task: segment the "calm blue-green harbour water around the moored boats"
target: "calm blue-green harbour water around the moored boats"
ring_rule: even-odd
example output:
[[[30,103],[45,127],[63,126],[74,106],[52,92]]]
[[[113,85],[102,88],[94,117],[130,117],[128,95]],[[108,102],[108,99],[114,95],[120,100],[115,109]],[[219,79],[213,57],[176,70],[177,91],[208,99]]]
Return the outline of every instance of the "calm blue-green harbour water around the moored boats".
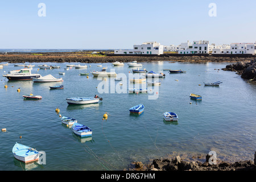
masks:
[[[0,132],[0,170],[123,170],[131,162],[147,163],[174,152],[207,155],[209,151],[216,151],[217,159],[234,161],[254,158],[256,85],[247,83],[234,72],[221,70],[230,63],[142,63],[142,68],[147,71],[166,74],[165,78],[159,79],[160,86],[148,86],[149,91],[155,91],[157,99],[149,99],[153,93],[117,93],[122,88],[127,91],[125,80],[120,87],[119,81],[113,78],[102,81],[91,73],[89,78],[79,76],[80,72],[100,70],[98,64],[68,71],[64,71],[66,64],[77,63],[46,63],[61,68],[39,71],[39,63],[32,64],[36,65],[32,72],[42,76],[59,77],[62,76],[59,72],[65,72],[64,81],[34,83],[1,78],[0,127],[7,131]],[[123,67],[104,63],[102,67],[108,67],[109,71],[115,69],[116,73],[124,73],[129,79],[131,68],[127,63]],[[0,73],[4,75],[19,68],[9,64],[0,69]],[[170,74],[163,68],[183,69],[187,73]],[[223,83],[219,87],[204,86],[204,82],[215,81]],[[98,92],[99,84],[104,82],[109,83],[109,93]],[[110,86],[113,82],[114,93],[113,85]],[[63,90],[49,89],[49,86],[60,84],[64,85]],[[16,91],[18,88],[20,92]],[[23,100],[22,95],[30,93],[43,98]],[[203,100],[191,100],[191,93],[201,95]],[[65,101],[67,97],[94,97],[95,94],[103,98],[99,104],[68,106]],[[130,107],[138,104],[145,106],[144,112],[139,116],[131,115]],[[80,139],[62,125],[55,112],[57,107],[61,115],[76,118],[90,127],[92,138]],[[165,111],[176,113],[179,121],[165,122]],[[106,112],[108,119],[102,120]],[[25,166],[20,163],[11,152],[15,142],[46,152],[46,164]]]

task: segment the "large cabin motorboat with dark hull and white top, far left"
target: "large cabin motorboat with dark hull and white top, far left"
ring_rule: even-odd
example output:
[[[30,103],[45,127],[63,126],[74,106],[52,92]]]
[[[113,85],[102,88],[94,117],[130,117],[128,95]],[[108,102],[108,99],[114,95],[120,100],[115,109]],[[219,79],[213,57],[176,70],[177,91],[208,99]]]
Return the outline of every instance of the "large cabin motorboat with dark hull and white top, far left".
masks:
[[[7,75],[3,75],[8,80],[32,80],[32,77],[41,77],[39,74],[32,74],[31,73],[32,68],[23,68],[20,69],[18,73],[10,73]]]

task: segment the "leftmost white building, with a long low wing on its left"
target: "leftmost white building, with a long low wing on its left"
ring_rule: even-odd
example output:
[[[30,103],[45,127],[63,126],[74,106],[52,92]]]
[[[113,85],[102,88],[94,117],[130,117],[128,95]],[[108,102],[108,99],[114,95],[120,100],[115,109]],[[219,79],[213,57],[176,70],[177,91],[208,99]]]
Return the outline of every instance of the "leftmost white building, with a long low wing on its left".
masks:
[[[163,45],[158,42],[143,42],[141,45],[134,45],[133,49],[115,49],[115,54],[125,55],[161,55]]]

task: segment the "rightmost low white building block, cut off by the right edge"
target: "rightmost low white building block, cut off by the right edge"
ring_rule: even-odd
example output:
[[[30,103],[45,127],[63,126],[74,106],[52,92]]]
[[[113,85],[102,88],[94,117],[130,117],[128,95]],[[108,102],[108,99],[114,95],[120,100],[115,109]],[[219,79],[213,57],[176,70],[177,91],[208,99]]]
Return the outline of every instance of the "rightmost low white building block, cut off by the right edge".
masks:
[[[256,53],[256,43],[232,43],[230,46],[222,45],[214,48],[212,54],[252,54]]]

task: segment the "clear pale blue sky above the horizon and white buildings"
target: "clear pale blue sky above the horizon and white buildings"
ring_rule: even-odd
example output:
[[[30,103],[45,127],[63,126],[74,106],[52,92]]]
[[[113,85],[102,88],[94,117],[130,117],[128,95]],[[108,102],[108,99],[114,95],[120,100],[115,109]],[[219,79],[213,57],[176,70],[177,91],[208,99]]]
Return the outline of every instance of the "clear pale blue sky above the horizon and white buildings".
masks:
[[[255,0],[2,0],[0,49],[129,49],[143,42],[178,46],[188,40],[254,43],[254,7]]]

